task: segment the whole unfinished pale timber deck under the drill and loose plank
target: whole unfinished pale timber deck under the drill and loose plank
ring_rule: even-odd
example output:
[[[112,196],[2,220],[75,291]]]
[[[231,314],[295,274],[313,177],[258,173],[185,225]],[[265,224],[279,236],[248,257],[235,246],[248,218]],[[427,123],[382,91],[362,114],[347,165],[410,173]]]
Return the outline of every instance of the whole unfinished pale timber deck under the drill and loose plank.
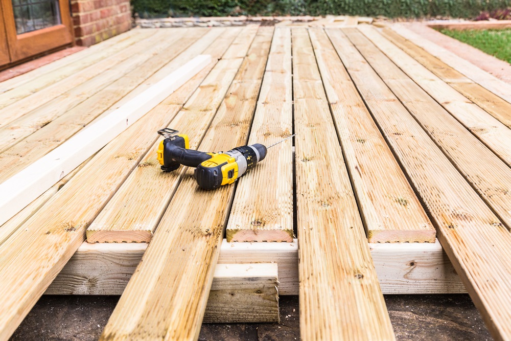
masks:
[[[464,290],[511,338],[511,85],[402,26],[344,26],[135,29],[1,82],[0,339],[44,292],[122,293],[105,340],[275,321],[279,294],[299,294],[304,339],[383,340],[382,293]],[[8,180],[200,54],[7,209]],[[159,169],[164,127],[203,151],[296,136],[203,191]]]

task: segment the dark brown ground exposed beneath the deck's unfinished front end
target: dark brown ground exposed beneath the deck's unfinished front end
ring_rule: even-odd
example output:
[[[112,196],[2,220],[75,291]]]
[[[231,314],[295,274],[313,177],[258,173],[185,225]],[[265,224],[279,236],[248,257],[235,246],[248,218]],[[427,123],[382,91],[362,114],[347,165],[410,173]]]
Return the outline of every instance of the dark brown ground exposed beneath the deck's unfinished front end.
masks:
[[[97,340],[118,296],[43,296],[11,341]],[[491,340],[468,295],[387,295],[398,340]],[[199,340],[299,340],[298,297],[283,296],[281,323],[204,324]]]

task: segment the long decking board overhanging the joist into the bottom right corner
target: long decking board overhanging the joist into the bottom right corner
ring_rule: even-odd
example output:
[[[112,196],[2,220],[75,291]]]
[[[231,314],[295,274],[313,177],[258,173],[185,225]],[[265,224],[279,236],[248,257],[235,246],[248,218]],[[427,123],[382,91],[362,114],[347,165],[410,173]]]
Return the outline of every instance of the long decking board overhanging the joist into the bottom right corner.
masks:
[[[327,30],[496,339],[511,337],[511,234],[340,30]]]

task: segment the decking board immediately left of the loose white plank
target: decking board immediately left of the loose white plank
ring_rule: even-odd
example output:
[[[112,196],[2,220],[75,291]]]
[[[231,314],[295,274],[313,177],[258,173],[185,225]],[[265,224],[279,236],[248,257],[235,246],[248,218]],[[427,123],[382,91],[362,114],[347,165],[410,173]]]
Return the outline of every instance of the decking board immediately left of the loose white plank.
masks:
[[[20,143],[4,150],[0,154],[0,181],[5,181],[31,163],[38,160],[51,150],[58,147],[75,133],[83,129],[94,119],[100,116],[115,102],[123,98],[133,88],[147,80],[158,69],[188,48],[189,44],[200,38],[204,31],[192,31],[184,34],[180,39],[172,40],[163,44],[166,49],[161,53],[154,53],[149,56],[136,58],[132,56],[130,61],[137,60],[138,63],[131,70],[122,71],[117,69],[119,79],[107,85],[100,92],[90,96],[74,108],[67,110],[62,116],[48,123],[29,135]],[[168,36],[168,35],[167,35]],[[177,47],[175,46],[177,45]],[[148,58],[149,57],[149,58]],[[136,72],[134,72],[136,71]],[[124,73],[125,72],[125,73]],[[109,115],[108,113],[106,115]]]

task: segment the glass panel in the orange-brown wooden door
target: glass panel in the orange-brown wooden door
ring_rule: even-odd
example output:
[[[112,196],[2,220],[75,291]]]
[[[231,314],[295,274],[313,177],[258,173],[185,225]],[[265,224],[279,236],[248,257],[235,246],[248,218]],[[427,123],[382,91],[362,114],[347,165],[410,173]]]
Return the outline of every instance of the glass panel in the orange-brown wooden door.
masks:
[[[16,34],[60,25],[58,0],[12,0]]]

